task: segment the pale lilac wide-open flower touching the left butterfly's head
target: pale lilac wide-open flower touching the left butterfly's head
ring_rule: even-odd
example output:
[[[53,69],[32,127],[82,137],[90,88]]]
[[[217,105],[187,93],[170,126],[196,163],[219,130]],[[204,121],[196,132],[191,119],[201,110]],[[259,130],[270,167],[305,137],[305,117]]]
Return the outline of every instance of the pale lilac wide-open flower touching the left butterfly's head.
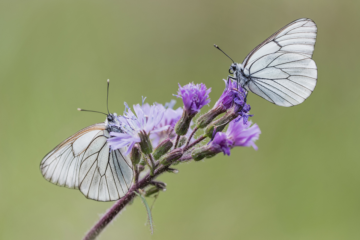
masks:
[[[161,132],[169,127],[169,125],[157,127],[161,121],[165,109],[159,108],[156,105],[133,105],[135,114],[127,106],[127,112],[123,116],[118,116],[118,124],[113,124],[116,128],[121,129],[122,132],[110,132],[110,137],[107,141],[111,149],[119,149],[127,147],[126,155],[130,153],[132,147],[136,142],[140,142],[139,133],[142,135],[149,135],[156,132]]]

